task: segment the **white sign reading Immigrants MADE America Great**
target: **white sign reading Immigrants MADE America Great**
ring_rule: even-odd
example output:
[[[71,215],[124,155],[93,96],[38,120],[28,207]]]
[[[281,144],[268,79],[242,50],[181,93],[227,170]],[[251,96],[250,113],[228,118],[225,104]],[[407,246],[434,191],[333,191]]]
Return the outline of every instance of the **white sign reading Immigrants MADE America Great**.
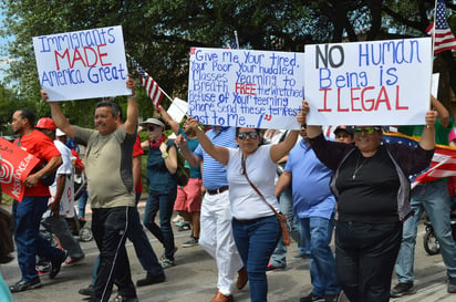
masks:
[[[49,101],[131,94],[122,27],[33,38],[38,74]]]

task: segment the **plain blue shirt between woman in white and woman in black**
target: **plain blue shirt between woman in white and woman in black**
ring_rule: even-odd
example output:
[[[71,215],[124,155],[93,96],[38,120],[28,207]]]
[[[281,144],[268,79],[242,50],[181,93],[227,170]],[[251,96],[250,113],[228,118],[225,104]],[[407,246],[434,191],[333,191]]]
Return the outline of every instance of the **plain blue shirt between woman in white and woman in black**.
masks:
[[[304,139],[290,150],[284,170],[292,175],[293,210],[297,216],[329,219],[335,211],[335,197],[330,189],[333,171],[318,159]]]

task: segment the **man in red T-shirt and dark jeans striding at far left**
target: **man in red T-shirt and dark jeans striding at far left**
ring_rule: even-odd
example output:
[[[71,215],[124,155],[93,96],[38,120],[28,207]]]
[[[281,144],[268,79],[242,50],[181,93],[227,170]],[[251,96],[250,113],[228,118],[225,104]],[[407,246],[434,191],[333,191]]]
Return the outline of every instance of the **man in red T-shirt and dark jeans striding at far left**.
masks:
[[[49,188],[40,183],[40,178],[52,174],[61,164],[62,158],[51,138],[33,128],[34,114],[22,108],[12,115],[12,129],[19,134],[14,144],[41,159],[38,166],[43,168],[32,171],[24,180],[25,191],[21,201],[14,200],[12,212],[14,218],[14,240],[18,250],[18,262],[21,270],[21,280],[10,287],[11,292],[38,289],[42,287],[35,269],[35,257],[51,259],[51,279],[60,272],[66,252],[53,248],[51,243],[39,236],[41,217],[48,209],[51,197]],[[55,127],[55,125],[54,125]]]

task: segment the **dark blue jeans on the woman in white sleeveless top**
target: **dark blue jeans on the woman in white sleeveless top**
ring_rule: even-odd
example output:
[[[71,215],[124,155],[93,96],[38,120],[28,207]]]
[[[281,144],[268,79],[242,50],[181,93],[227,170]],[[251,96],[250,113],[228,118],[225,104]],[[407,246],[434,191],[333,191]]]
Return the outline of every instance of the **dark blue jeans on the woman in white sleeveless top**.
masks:
[[[266,268],[282,236],[276,216],[251,220],[232,219],[232,235],[250,283],[250,301],[267,301]]]

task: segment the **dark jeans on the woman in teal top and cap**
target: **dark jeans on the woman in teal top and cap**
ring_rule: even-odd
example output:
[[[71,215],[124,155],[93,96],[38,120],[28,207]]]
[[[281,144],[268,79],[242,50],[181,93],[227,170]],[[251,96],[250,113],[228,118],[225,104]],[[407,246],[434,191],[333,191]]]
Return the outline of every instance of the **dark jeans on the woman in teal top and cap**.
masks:
[[[165,248],[165,257],[174,261],[174,233],[170,225],[177,187],[167,192],[149,190],[144,211],[144,226],[158,239]],[[159,210],[159,227],[155,223],[155,216]]]

